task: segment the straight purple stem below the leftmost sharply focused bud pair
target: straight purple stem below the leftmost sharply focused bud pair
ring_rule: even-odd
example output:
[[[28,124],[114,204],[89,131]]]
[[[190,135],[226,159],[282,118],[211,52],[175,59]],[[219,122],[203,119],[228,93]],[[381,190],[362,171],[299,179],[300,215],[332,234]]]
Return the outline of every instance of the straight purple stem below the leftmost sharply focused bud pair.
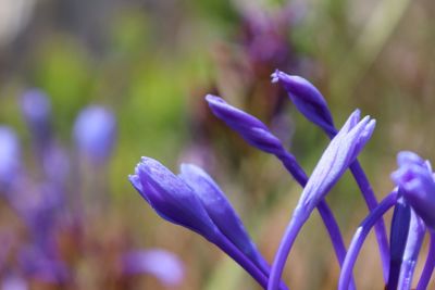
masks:
[[[224,235],[219,235],[215,241],[212,240],[222,251],[227,253],[237,264],[239,264],[264,289],[268,287],[268,273],[261,272],[258,266],[250,261],[237,247],[235,247]],[[269,269],[268,269],[269,270]],[[279,285],[281,290],[288,290],[284,285]]]

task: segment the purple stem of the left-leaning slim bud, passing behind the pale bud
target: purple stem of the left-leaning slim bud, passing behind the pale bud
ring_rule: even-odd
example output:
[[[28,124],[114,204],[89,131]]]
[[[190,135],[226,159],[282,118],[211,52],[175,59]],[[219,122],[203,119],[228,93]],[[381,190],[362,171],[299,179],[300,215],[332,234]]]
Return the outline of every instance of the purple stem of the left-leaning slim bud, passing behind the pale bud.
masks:
[[[300,165],[296,161],[295,156],[288,152],[285,152],[285,154],[278,155],[277,157],[283,162],[284,166],[293,175],[296,181],[302,188],[304,188],[308,181],[308,177],[304,171],[300,167]],[[337,256],[338,264],[341,267],[346,256],[346,247],[337,220],[335,219],[333,212],[331,211],[330,206],[327,205],[324,199],[322,199],[319,202],[316,209],[319,211],[320,216],[322,217],[323,224],[325,225],[327,232],[330,234],[335,255]],[[355,281],[352,279],[351,290],[353,289],[356,289],[356,287],[355,287]]]

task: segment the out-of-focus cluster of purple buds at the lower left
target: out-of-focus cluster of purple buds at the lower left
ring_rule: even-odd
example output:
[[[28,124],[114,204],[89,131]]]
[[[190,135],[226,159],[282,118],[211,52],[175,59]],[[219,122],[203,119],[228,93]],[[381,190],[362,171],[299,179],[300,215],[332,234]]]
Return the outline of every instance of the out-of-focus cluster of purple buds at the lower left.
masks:
[[[95,177],[108,167],[115,146],[114,114],[100,105],[84,109],[73,128],[75,150],[69,152],[54,137],[51,103],[42,91],[26,91],[21,109],[38,171],[24,163],[15,131],[0,126],[2,210],[8,209],[11,220],[18,220],[0,227],[0,288],[88,289],[92,283],[99,289],[130,289],[132,278],[144,275],[169,287],[179,285],[184,267],[173,253],[136,249],[122,228],[114,228],[113,237],[97,235],[92,228],[104,215],[95,218],[88,196],[109,192],[103,187],[84,190],[85,174],[78,165],[95,169],[92,182],[98,184]],[[110,204],[104,205],[104,212],[110,212]],[[100,266],[87,273],[86,281],[79,273],[91,260],[101,260]],[[98,275],[104,278],[98,280],[94,277]]]

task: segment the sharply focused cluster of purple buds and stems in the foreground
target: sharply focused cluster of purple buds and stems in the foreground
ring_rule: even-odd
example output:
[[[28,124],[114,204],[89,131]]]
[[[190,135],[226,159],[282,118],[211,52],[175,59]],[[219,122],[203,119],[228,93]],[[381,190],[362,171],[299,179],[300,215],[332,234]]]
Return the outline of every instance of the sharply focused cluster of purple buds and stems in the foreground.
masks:
[[[298,111],[331,138],[310,176],[264,123],[220,97],[206,97],[217,118],[251,147],[276,156],[302,187],[271,265],[254,245],[220,187],[203,169],[183,164],[181,174],[175,175],[158,161],[142,157],[135,174],[129,176],[133,186],[161,217],[214,243],[269,290],[287,289],[282,281],[287,257],[314,209],[323,219],[340,266],[337,282],[340,290],[357,289],[352,269],[372,227],[376,234],[386,289],[411,289],[417,259],[424,235],[428,232],[428,255],[417,286],[419,290],[426,289],[435,265],[435,179],[430,163],[412,152],[399,153],[399,168],[391,174],[396,187],[377,202],[357,160],[374,131],[375,121],[370,116],[361,118],[360,111],[356,110],[341,128],[337,128],[324,97],[311,83],[279,71],[272,74],[272,81],[278,83]],[[326,194],[347,169],[368,206],[368,215],[357,228],[349,247],[345,245],[334,213],[325,201]],[[383,216],[391,207],[394,216],[388,240]]]

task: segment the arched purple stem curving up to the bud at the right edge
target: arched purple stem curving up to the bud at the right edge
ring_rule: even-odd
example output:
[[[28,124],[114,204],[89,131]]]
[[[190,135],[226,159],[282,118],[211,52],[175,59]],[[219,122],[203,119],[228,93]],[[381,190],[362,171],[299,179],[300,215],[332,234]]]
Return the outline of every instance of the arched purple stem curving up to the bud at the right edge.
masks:
[[[347,290],[349,287],[350,277],[353,270],[353,265],[357,261],[358,253],[360,252],[362,244],[366,236],[369,235],[371,228],[376,224],[376,222],[382,218],[382,216],[391,206],[395,205],[397,201],[397,191],[390,192],[361,223],[355,234],[352,241],[347,252],[345,263],[341,269],[338,290]]]

